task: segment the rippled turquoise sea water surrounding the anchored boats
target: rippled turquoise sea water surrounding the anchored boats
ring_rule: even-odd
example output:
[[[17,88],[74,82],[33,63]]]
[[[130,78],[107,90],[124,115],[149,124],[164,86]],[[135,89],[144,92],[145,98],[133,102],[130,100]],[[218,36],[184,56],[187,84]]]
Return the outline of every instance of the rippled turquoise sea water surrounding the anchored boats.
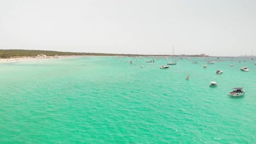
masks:
[[[255,59],[171,59],[0,63],[0,143],[256,143]]]

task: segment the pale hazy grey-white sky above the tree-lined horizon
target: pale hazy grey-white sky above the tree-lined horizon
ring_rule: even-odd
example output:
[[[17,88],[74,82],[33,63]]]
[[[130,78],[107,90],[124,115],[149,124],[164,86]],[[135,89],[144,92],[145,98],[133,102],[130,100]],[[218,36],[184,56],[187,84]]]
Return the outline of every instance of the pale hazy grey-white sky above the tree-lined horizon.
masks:
[[[256,54],[256,1],[0,0],[0,49]]]

